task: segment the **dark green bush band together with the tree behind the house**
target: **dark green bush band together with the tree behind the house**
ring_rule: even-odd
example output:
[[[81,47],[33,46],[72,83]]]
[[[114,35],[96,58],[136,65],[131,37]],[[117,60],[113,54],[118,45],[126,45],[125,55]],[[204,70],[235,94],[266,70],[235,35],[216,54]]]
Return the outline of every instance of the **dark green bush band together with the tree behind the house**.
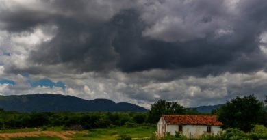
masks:
[[[111,128],[113,126],[155,124],[162,114],[197,113],[186,111],[178,102],[159,100],[148,113],[138,112],[33,112],[18,113],[0,109],[0,130],[16,128],[42,128],[63,126],[64,130]]]

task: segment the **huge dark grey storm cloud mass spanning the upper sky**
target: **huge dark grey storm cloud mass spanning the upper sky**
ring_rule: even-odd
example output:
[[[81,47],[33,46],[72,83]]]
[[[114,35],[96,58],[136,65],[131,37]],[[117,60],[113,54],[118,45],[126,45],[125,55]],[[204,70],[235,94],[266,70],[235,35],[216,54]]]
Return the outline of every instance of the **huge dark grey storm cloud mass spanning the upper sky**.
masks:
[[[171,3],[160,1],[159,5],[168,2]],[[120,8],[121,4],[113,1],[110,7],[115,12],[111,14],[108,4],[99,5],[97,1],[50,1],[48,8],[56,9],[55,12],[22,9],[7,12],[0,19],[8,31],[22,31],[47,23],[58,27],[50,42],[31,52],[29,60],[36,64],[64,64],[77,72],[166,69],[206,76],[265,68],[266,57],[259,49],[258,38],[266,29],[266,3],[240,1],[236,7],[238,14],[231,17],[223,1],[197,1],[184,8],[187,11],[164,13],[167,15],[162,18],[164,23],[144,20],[146,6],[130,6],[134,2]],[[188,15],[190,10],[196,15]],[[196,21],[196,33],[191,31],[191,25],[188,29],[179,27],[176,14]],[[229,31],[225,29],[218,34],[223,26],[220,18],[226,20]],[[166,31],[156,33],[154,30],[161,29],[161,24]],[[191,24],[193,27],[194,22]],[[168,28],[164,27],[167,25]]]

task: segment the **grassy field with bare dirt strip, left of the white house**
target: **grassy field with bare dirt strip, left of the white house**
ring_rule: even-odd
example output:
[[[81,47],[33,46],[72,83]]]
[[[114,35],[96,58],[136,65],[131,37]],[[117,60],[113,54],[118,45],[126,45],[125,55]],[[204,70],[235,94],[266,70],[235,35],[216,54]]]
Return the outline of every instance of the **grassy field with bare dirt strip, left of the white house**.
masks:
[[[36,132],[34,128],[1,130],[0,139],[10,140],[115,140],[119,135],[130,135],[132,138],[149,137],[156,131],[155,126],[116,126],[114,128],[98,128],[84,131],[61,131],[60,127],[48,128],[47,131]]]

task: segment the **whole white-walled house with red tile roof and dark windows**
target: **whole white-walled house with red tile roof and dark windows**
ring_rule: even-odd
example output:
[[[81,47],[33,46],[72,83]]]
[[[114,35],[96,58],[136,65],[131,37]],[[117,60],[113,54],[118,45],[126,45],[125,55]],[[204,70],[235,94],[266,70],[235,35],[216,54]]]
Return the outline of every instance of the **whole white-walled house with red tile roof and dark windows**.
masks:
[[[203,134],[217,135],[222,131],[223,123],[216,115],[162,115],[157,123],[157,135],[164,136],[167,132],[175,135],[180,132],[186,137],[200,137]]]

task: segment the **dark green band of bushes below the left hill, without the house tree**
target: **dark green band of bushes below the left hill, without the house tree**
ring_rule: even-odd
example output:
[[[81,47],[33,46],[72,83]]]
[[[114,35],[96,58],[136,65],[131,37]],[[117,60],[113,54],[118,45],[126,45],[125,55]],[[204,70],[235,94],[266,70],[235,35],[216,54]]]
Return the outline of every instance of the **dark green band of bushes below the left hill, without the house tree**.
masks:
[[[66,129],[81,130],[143,124],[146,121],[146,113],[133,112],[17,113],[0,111],[1,129],[64,126]]]

